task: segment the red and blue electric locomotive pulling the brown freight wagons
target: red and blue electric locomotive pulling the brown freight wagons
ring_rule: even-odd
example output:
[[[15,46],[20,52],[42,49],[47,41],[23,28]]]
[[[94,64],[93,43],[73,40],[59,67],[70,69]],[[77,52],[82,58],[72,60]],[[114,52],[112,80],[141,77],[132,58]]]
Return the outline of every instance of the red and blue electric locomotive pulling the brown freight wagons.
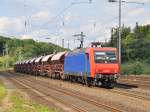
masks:
[[[86,48],[69,52],[65,56],[64,74],[71,80],[84,81],[87,85],[113,88],[120,66],[116,48]]]

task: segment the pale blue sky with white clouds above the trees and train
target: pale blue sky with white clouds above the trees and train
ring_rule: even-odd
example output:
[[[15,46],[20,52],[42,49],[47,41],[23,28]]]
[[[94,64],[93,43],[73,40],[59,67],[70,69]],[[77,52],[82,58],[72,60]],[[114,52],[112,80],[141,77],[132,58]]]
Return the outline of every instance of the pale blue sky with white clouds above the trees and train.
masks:
[[[122,24],[134,27],[150,24],[150,0],[125,0]],[[26,27],[25,27],[26,20]],[[84,46],[93,41],[108,41],[112,27],[118,26],[118,3],[108,0],[0,0],[0,35],[32,38],[71,49],[79,46],[74,34],[83,32]],[[49,39],[47,39],[49,38]]]

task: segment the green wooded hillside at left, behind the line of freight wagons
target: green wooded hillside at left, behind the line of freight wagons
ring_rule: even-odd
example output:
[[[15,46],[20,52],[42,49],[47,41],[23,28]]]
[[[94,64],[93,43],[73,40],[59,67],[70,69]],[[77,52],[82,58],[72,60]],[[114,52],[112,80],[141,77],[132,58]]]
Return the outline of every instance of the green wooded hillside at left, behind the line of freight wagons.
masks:
[[[45,42],[36,42],[32,39],[20,40],[15,38],[6,38],[0,36],[0,68],[6,67],[6,62],[8,62],[8,67],[12,67],[16,61],[25,60],[32,57],[37,57],[41,55],[47,55],[53,53],[54,51],[64,51],[67,50],[62,48],[58,45],[52,43],[45,43]],[[8,57],[2,56],[2,51],[4,50],[4,45],[7,44],[8,46]]]

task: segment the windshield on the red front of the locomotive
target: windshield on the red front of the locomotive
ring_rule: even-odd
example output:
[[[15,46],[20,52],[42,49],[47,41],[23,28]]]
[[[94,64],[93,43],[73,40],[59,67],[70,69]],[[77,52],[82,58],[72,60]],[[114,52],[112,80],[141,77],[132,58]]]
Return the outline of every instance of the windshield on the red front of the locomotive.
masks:
[[[95,63],[117,63],[117,55],[114,51],[95,51]]]

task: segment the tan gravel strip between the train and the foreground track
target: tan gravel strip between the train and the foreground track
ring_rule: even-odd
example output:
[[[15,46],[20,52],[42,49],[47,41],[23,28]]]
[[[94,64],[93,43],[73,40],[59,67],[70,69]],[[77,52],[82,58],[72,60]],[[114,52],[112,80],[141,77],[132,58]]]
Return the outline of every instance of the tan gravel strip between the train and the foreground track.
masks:
[[[37,77],[36,80],[45,81],[48,82],[49,84],[61,86],[63,88],[67,88],[78,93],[96,96],[97,98],[105,100],[106,102],[110,102],[111,104],[114,104],[116,106],[119,105],[126,111],[133,111],[133,110],[134,112],[150,111],[150,101],[144,101],[137,98],[111,93],[109,90],[104,91],[103,88],[95,88],[95,87],[89,88],[86,86],[82,86],[81,84],[70,83],[61,80],[53,80],[43,77]]]

